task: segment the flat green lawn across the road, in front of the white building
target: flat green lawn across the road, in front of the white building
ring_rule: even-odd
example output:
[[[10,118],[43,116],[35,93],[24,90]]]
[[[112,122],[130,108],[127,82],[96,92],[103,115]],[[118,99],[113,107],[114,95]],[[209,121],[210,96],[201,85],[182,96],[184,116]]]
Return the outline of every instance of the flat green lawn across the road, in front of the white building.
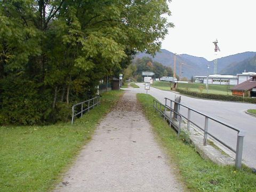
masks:
[[[160,90],[165,90],[165,91],[170,91],[170,82],[160,82],[160,81],[155,81],[153,83],[153,87],[160,89]],[[183,89],[187,91],[194,91],[194,92],[200,92],[199,87],[203,87],[202,93],[206,93],[206,87],[205,84],[202,83],[178,83],[178,89]],[[233,85],[211,85],[209,84],[209,93],[212,94],[225,94],[227,93],[231,95],[231,91],[228,90],[229,88],[233,87]]]

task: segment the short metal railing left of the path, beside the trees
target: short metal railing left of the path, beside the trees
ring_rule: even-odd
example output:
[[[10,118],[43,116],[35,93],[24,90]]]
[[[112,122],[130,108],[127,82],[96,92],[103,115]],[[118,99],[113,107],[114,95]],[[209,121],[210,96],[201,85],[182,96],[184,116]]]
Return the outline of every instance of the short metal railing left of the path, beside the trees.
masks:
[[[78,113],[75,113],[75,107],[80,106],[80,105],[81,105],[81,108],[76,110],[76,111],[79,111],[79,110],[80,111]],[[81,103],[77,103],[76,105],[73,105],[72,106],[72,120],[71,120],[71,124],[74,123],[75,117],[77,115],[81,115],[81,117],[83,117],[84,111],[89,112],[91,108],[94,108],[94,106],[98,106],[98,105],[100,105],[100,96],[97,96],[97,97],[94,97],[92,99],[83,101]]]

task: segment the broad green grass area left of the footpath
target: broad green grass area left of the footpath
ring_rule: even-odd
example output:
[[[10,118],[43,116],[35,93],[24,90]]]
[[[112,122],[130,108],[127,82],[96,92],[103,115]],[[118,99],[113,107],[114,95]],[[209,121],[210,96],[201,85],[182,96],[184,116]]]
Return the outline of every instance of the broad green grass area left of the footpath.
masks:
[[[101,105],[74,125],[0,127],[0,191],[51,190],[122,94],[104,93]]]

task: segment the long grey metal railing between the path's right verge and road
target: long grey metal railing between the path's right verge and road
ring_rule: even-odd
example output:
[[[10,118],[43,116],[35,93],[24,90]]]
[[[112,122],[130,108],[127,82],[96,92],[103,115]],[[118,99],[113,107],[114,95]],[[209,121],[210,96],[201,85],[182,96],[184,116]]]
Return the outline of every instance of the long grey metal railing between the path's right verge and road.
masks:
[[[223,123],[223,122],[219,121],[218,119],[215,119],[213,117],[205,115],[205,114],[203,114],[203,113],[201,113],[201,112],[199,112],[195,109],[192,109],[190,107],[182,105],[179,102],[173,101],[173,100],[168,99],[168,98],[164,98],[164,99],[165,99],[165,105],[163,105],[161,102],[154,99],[153,107],[155,108],[156,111],[158,111],[159,113],[161,113],[163,115],[164,119],[168,119],[168,121],[170,122],[170,126],[173,125],[173,127],[178,131],[178,136],[180,134],[182,118],[185,118],[187,120],[187,129],[188,130],[189,130],[190,125],[193,124],[198,129],[200,129],[204,132],[203,143],[204,143],[205,146],[207,145],[207,137],[209,135],[210,137],[212,137],[213,139],[215,139],[216,141],[221,143],[223,146],[225,146],[226,148],[228,148],[229,150],[231,150],[235,153],[235,155],[236,155],[236,157],[235,157],[235,166],[237,168],[241,168],[241,166],[242,166],[242,154],[243,154],[243,139],[244,139],[244,136],[245,136],[242,131],[236,129],[234,126]],[[170,106],[167,105],[167,101],[169,101]],[[178,110],[174,110],[174,105],[178,106]],[[187,109],[187,114],[186,115],[182,115],[180,113],[180,107],[184,107],[184,108]],[[168,113],[169,113],[168,111],[170,111],[170,115],[168,115]],[[191,111],[193,111],[194,113],[204,117],[204,127],[199,126],[197,123],[195,123],[194,121],[191,120]],[[221,139],[215,137],[213,134],[209,133],[209,131],[208,131],[209,130],[209,119],[211,119],[215,123],[218,123],[220,125],[223,125],[223,126],[227,127],[230,130],[233,130],[237,133],[236,149],[233,149],[227,143],[225,143]]]

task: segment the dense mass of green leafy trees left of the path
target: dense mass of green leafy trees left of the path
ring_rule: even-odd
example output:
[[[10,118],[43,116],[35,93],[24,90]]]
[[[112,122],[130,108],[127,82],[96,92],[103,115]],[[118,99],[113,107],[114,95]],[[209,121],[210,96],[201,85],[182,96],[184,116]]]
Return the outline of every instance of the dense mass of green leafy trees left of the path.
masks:
[[[13,99],[21,109],[20,103],[30,95],[23,116],[2,113],[2,122],[54,122],[62,119],[58,110],[68,118],[70,103],[93,97],[100,81],[121,73],[132,55],[160,49],[161,39],[173,27],[166,14],[170,11],[165,0],[1,1],[0,81],[4,83],[0,93],[5,96],[0,106],[14,111],[17,104],[6,105]],[[9,76],[20,74],[21,82],[26,81],[23,85],[15,83],[12,90],[3,87],[11,84]],[[30,109],[39,101],[43,109]]]

